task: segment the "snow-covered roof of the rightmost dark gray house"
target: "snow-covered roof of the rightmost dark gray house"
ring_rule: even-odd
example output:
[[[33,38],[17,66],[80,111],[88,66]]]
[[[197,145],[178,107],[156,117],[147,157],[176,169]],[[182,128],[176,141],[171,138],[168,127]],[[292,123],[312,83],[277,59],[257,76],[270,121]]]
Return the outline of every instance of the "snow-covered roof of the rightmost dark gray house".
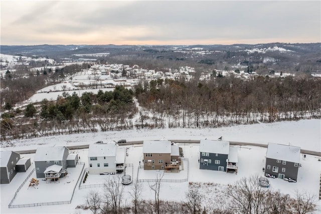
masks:
[[[268,143],[266,157],[276,160],[299,163],[300,152],[301,148],[297,146]]]

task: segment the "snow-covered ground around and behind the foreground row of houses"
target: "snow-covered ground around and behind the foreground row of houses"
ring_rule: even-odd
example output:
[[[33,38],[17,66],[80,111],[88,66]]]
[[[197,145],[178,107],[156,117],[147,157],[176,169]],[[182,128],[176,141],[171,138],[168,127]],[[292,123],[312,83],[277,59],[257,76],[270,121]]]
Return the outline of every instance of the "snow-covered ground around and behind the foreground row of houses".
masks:
[[[320,151],[320,132],[320,120],[302,120],[297,122],[233,126],[219,129],[156,129],[52,136],[16,141],[15,147],[6,147],[2,148],[2,150],[19,151],[24,149],[35,149],[40,146],[48,145],[72,146],[90,144],[98,140],[102,140],[107,143],[109,140],[119,139],[127,139],[127,141],[152,139],[200,140],[205,138],[217,139],[218,137],[223,136],[223,140],[225,141],[240,141],[261,144],[267,144],[268,142],[281,144],[290,143],[293,146],[300,146],[302,149]],[[211,170],[200,170],[198,163],[199,145],[182,143],[179,144],[179,146],[183,149],[184,157],[188,158],[188,167],[186,167],[187,164],[184,162],[184,170],[180,171],[179,173],[165,173],[164,179],[171,179],[173,176],[176,176],[178,179],[182,179],[188,175],[188,182],[163,182],[159,194],[161,199],[176,201],[185,200],[185,193],[188,191],[189,182],[211,183],[213,188],[201,188],[201,190],[202,193],[208,194],[210,192],[210,196],[215,197],[215,195],[222,194],[221,189],[223,189],[227,184],[234,183],[242,177],[248,177],[253,174],[264,175],[262,172],[262,167],[264,167],[266,148],[238,146],[239,164],[238,173],[235,174]],[[142,160],[142,146],[131,145],[126,147],[128,153],[128,156],[126,157],[126,163],[133,164],[133,167],[128,168],[128,170],[132,171],[133,178],[136,179],[139,161]],[[85,168],[88,167],[88,149],[75,150],[74,152],[79,153],[80,161],[85,162]],[[22,156],[30,157],[31,161],[33,162],[34,154]],[[321,165],[318,161],[318,158],[307,155],[306,158],[303,159],[301,156],[300,163],[302,166],[299,168],[296,183],[289,183],[281,179],[269,179],[271,183],[270,188],[280,190],[280,192],[290,195],[294,195],[295,190],[302,192],[306,191],[308,193],[317,195],[319,189],[319,176],[321,173]],[[21,185],[33,167],[34,164],[31,165],[28,172],[18,173],[10,184],[2,184],[0,186],[1,213],[91,213],[90,210],[76,209],[75,207],[84,203],[86,195],[91,190],[102,191],[103,187],[78,189],[77,185],[71,204],[36,206],[28,208],[8,208],[8,204],[14,196],[15,191]],[[72,168],[68,168],[68,171],[69,169]],[[127,171],[128,174],[129,171]],[[163,173],[163,171],[148,171],[143,173],[140,173],[139,171],[138,176],[140,179],[152,179],[156,178],[157,173]],[[101,184],[104,183],[105,179],[105,175],[89,175],[85,184]],[[14,201],[13,204],[42,200],[42,198],[44,198],[44,194],[48,192],[47,188],[51,188],[52,186],[63,186],[66,188],[64,190],[65,192],[72,191],[72,188],[69,186],[70,183],[67,184],[65,182],[67,180],[68,178],[62,178],[59,184],[41,183],[39,184],[38,189],[28,189],[28,184],[25,184],[25,186],[23,186],[21,191],[18,193],[16,199],[17,201]],[[141,195],[141,199],[153,199],[154,195],[148,187],[148,182],[142,182],[142,185],[143,193]],[[40,186],[42,188],[40,188]],[[130,189],[131,185],[125,186],[123,200],[124,204],[131,203],[131,198],[128,193]],[[33,192],[36,191],[39,194],[33,194]],[[61,194],[61,190],[58,188],[52,192],[56,197],[60,197],[59,195]],[[67,195],[69,195],[69,193]],[[59,200],[65,199],[58,199],[56,201]],[[319,202],[320,200],[318,203]]]

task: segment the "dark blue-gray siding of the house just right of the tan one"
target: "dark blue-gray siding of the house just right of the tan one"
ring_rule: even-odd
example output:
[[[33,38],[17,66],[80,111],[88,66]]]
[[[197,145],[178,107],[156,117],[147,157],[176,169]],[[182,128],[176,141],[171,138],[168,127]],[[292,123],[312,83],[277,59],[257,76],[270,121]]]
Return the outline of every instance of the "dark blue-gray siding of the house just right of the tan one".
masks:
[[[216,156],[215,153],[210,153],[210,156],[202,156],[202,152],[200,152],[200,169],[210,169],[210,170],[219,170],[219,166],[224,167],[224,171],[226,171],[226,159],[228,158],[228,155],[225,154],[218,154]],[[201,159],[203,159],[203,163],[201,162]],[[211,163],[206,163],[204,160],[211,160]],[[215,160],[219,160],[220,164],[215,164]]]

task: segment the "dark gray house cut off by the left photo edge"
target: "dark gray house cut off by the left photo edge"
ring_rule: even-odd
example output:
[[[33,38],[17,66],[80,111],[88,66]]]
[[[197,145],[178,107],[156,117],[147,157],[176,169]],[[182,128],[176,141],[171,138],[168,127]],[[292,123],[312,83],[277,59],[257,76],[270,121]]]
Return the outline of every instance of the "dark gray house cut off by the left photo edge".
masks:
[[[1,151],[0,153],[0,183],[10,183],[17,174],[16,164],[20,159],[20,154],[13,151]]]

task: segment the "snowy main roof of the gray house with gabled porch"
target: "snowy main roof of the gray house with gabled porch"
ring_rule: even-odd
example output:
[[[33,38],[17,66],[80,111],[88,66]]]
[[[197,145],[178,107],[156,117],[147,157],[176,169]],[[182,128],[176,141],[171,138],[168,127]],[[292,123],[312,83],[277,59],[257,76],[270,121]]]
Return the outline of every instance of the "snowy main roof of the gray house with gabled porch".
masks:
[[[37,148],[34,161],[62,160],[66,149],[69,150],[64,146],[39,147]]]

